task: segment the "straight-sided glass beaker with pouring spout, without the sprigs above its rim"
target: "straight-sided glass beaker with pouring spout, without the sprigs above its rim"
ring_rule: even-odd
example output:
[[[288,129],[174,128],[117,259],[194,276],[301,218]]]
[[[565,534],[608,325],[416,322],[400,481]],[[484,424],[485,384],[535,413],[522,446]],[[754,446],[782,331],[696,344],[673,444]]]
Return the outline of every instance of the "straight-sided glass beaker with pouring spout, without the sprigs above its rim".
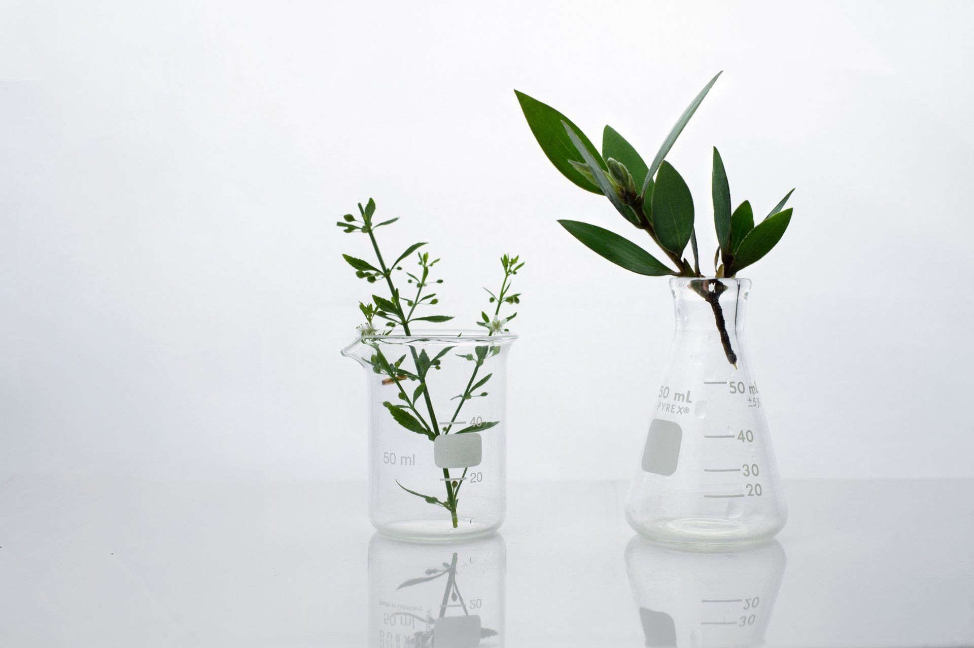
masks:
[[[369,519],[405,538],[487,533],[506,512],[506,364],[514,335],[365,337]]]

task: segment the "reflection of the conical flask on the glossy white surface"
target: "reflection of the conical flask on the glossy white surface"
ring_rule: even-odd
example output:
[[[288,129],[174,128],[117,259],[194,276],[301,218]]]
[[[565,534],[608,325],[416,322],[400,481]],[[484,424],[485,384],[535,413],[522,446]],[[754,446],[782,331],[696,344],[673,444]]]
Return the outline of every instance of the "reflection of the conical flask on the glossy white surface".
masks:
[[[763,643],[786,562],[776,540],[715,550],[635,536],[625,569],[646,645]]]

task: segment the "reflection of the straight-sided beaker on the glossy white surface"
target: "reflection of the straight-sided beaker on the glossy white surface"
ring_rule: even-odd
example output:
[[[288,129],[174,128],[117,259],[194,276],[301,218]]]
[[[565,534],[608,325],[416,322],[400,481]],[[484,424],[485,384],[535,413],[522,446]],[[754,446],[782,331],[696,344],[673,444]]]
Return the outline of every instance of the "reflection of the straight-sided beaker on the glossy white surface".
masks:
[[[503,645],[505,570],[499,533],[449,543],[374,534],[368,547],[369,645]]]

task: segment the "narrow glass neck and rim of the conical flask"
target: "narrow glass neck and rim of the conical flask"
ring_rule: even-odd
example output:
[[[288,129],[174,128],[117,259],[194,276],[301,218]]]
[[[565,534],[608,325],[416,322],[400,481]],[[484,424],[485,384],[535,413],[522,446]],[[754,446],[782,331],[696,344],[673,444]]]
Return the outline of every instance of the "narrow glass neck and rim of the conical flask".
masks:
[[[670,279],[677,332],[715,331],[723,320],[728,334],[742,333],[750,289],[750,279]]]

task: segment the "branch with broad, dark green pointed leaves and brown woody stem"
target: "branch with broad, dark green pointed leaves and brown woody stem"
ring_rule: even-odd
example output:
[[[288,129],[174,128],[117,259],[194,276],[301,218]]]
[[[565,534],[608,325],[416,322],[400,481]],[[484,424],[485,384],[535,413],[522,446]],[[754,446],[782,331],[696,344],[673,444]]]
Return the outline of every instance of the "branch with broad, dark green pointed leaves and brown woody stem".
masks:
[[[528,126],[555,168],[581,189],[608,198],[627,223],[649,234],[669,264],[628,238],[597,225],[572,220],[558,223],[596,254],[626,270],[648,276],[703,278],[694,231],[693,196],[683,176],[665,158],[720,76],[718,73],[693,98],[650,164],[644,162],[636,149],[612,126],[605,126],[602,151],[599,152],[581,128],[567,117],[514,90]],[[794,191],[788,192],[764,220],[755,224],[751,203],[747,200],[731,211],[727,171],[720,152],[716,147],[713,149],[711,202],[718,240],[714,254],[716,278],[692,282],[691,287],[712,306],[731,364],[736,363],[736,354],[731,348],[721,312],[719,297],[726,285],[720,279],[733,277],[761,260],[777,244],[791,222],[792,209],[786,209],[785,204]],[[688,245],[693,263],[685,256]]]

